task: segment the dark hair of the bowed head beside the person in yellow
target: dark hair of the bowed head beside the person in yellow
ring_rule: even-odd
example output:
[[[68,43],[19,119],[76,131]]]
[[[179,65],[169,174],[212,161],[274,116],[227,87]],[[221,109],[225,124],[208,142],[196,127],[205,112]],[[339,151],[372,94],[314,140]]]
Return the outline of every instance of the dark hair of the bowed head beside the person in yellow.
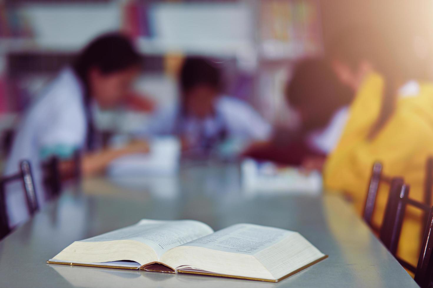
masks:
[[[316,58],[297,64],[285,92],[294,108],[314,109],[315,117],[303,123],[307,131],[325,127],[336,110],[348,105],[353,98],[353,93],[338,80],[331,65]]]

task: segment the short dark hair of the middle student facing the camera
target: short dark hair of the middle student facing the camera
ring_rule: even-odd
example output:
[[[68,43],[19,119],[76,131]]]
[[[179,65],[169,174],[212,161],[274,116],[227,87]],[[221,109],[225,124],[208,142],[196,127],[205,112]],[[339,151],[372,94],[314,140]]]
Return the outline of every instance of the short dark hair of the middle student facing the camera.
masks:
[[[180,86],[182,92],[187,92],[191,88],[203,84],[208,85],[215,90],[220,90],[220,69],[205,58],[186,58],[180,73]]]

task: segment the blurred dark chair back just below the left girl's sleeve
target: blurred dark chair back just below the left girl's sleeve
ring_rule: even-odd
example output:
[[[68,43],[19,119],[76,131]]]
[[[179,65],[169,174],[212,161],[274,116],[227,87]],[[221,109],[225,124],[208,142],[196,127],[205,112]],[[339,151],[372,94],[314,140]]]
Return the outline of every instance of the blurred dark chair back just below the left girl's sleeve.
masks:
[[[81,179],[81,156],[77,150],[70,160],[61,160],[58,156],[50,157],[42,163],[43,185],[48,199],[60,195],[65,182]]]

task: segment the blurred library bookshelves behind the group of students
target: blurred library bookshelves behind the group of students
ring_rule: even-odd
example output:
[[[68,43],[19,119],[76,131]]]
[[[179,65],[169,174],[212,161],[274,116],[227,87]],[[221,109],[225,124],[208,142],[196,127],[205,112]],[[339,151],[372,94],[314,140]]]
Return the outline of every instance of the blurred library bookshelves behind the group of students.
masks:
[[[348,26],[410,35],[423,64],[432,63],[432,2],[346,0],[0,0],[0,135],[3,155],[19,115],[91,39],[121,30],[144,57],[136,89],[169,105],[182,59],[220,63],[225,92],[249,102],[277,127],[293,125],[284,85],[294,63],[326,52]],[[367,28],[366,28],[367,29]],[[428,65],[428,69],[430,66]],[[433,74],[433,73],[432,73]],[[143,112],[100,112],[102,131],[128,132]]]

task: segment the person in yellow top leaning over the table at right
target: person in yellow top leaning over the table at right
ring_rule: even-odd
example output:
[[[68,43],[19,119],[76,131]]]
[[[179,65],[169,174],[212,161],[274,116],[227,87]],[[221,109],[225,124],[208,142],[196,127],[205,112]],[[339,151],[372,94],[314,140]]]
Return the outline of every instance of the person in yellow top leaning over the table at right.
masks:
[[[383,164],[385,175],[404,177],[410,198],[423,201],[425,163],[433,155],[433,84],[412,80],[420,76],[400,61],[410,59],[406,47],[387,45],[381,35],[366,36],[352,34],[333,51],[337,76],[356,93],[343,134],[323,168],[326,189],[345,192],[360,214],[375,161]],[[378,226],[388,199],[387,188],[382,189],[373,216]],[[423,236],[421,216],[418,209],[407,208],[397,251],[414,265]]]

